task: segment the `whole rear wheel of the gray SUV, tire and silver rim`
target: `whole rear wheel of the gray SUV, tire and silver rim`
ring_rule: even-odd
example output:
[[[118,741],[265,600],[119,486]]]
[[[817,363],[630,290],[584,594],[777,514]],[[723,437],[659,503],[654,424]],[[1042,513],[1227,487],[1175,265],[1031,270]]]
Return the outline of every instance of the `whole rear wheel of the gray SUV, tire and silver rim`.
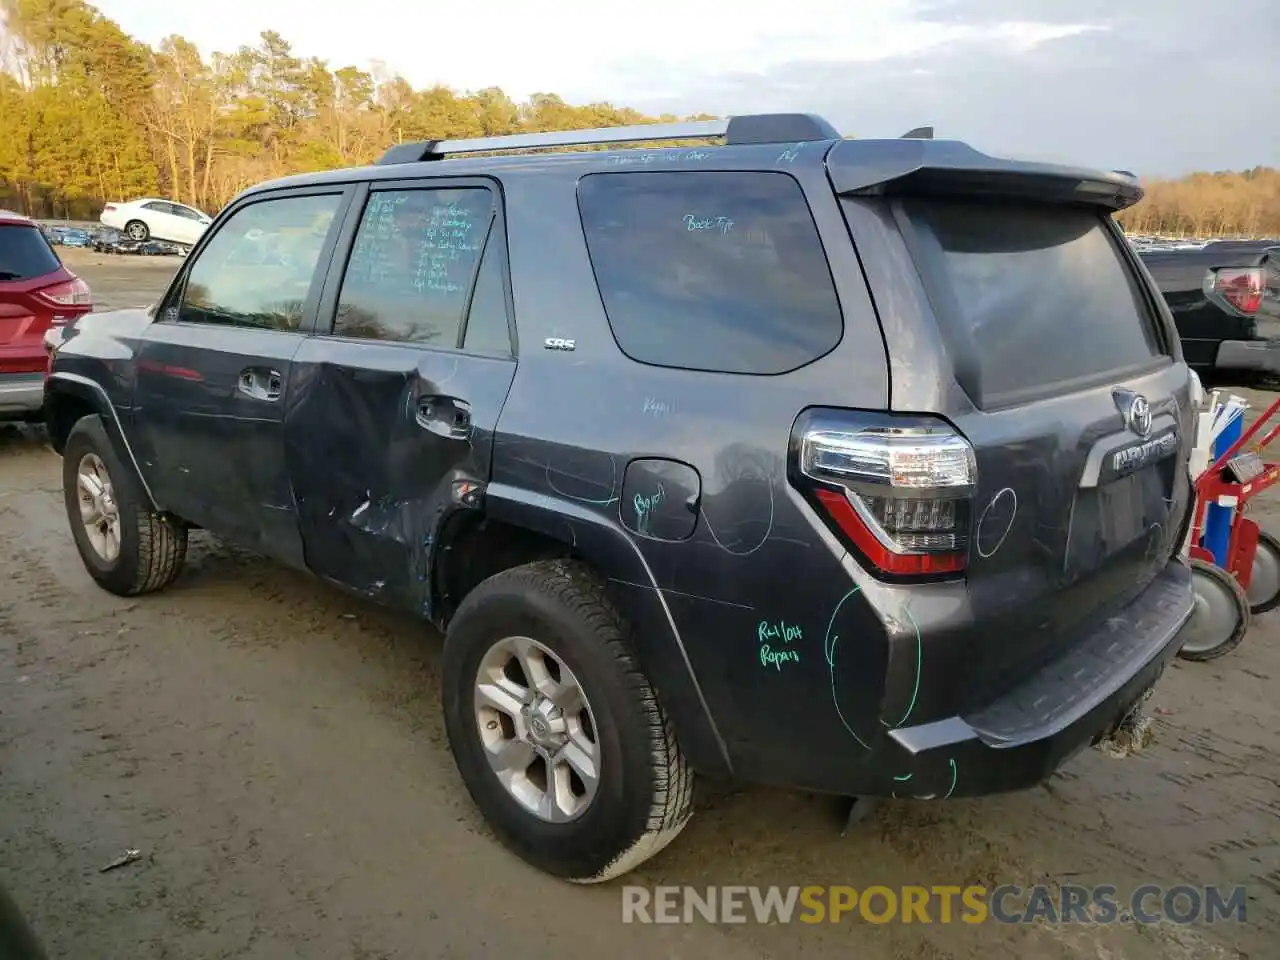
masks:
[[[444,722],[502,842],[579,883],[620,877],[692,813],[692,772],[603,582],[568,561],[497,573],[449,625]]]

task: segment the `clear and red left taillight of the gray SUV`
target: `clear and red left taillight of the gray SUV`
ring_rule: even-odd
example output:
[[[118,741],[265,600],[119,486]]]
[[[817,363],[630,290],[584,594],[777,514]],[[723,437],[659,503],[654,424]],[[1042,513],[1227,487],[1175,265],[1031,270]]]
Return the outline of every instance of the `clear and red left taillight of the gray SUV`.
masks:
[[[879,572],[964,570],[978,471],[973,447],[948,425],[815,428],[799,456],[813,499]]]

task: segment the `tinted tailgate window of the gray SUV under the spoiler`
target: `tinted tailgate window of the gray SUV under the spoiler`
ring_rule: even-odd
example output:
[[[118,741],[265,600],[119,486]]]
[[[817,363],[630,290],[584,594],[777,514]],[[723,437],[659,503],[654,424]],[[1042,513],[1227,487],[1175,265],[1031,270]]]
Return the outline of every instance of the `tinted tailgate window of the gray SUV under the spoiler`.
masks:
[[[979,403],[1149,364],[1149,311],[1101,216],[1079,207],[908,201],[941,320]]]

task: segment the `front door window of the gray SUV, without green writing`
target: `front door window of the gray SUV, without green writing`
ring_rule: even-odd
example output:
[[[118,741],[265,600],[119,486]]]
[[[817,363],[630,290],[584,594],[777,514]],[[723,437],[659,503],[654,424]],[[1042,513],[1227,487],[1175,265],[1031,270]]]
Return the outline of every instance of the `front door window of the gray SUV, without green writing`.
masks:
[[[298,329],[340,204],[340,193],[324,193],[237,210],[191,265],[178,320]]]

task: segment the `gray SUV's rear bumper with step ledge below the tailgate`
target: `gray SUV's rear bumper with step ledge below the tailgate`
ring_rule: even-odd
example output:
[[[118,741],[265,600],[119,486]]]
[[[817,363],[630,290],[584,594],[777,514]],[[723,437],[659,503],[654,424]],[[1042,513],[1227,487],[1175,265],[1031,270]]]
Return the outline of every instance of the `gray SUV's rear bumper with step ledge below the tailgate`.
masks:
[[[1192,576],[1170,563],[1129,607],[1021,686],[964,717],[891,731],[888,792],[979,796],[1023,790],[1106,736],[1178,653]],[[897,758],[891,755],[897,753]]]

